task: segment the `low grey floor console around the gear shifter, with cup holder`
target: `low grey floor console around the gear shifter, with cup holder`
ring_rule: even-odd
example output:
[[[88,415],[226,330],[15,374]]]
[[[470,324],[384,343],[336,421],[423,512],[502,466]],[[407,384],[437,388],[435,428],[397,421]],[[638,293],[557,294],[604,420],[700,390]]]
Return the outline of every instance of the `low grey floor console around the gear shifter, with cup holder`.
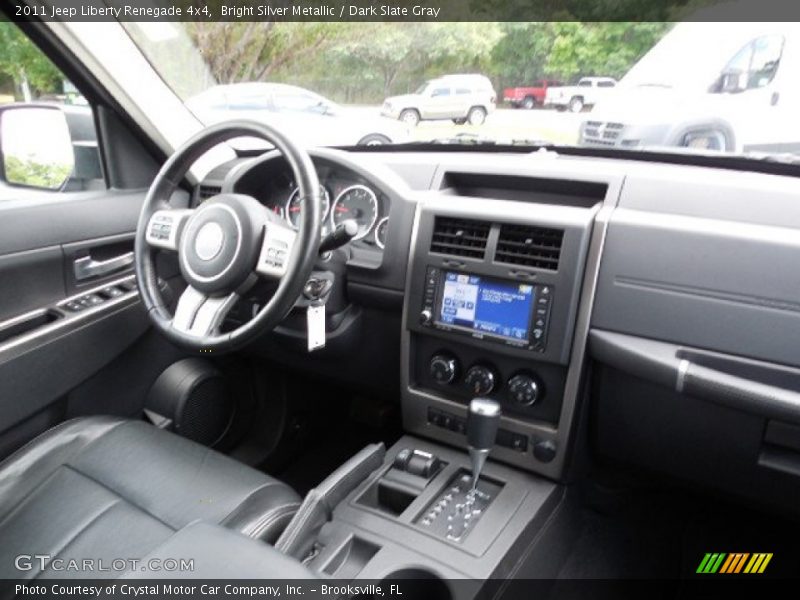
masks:
[[[471,485],[466,452],[401,438],[338,504],[305,562],[336,580],[442,583],[411,597],[439,589],[434,597],[473,598],[485,580],[513,571],[563,488],[496,463],[486,464],[474,497]]]

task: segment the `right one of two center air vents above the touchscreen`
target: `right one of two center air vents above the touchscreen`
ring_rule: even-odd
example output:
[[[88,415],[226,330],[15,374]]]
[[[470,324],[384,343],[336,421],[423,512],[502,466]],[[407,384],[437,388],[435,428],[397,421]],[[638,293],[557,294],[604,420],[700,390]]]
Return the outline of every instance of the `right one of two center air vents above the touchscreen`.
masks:
[[[564,232],[530,225],[501,225],[495,262],[558,270]]]

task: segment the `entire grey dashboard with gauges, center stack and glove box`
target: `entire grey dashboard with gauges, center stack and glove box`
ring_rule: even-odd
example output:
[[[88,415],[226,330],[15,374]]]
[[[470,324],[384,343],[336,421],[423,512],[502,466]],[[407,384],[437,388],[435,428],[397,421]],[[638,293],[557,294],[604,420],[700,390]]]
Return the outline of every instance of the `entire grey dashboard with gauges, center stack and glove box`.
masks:
[[[328,227],[354,186],[375,214],[353,198],[364,234],[321,267],[342,287],[325,350],[306,353],[290,317],[250,351],[399,397],[404,430],[456,447],[469,399],[494,398],[493,458],[554,480],[586,454],[791,509],[796,179],[554,152],[311,155]],[[277,154],[222,165],[195,201],[209,190],[291,218]]]

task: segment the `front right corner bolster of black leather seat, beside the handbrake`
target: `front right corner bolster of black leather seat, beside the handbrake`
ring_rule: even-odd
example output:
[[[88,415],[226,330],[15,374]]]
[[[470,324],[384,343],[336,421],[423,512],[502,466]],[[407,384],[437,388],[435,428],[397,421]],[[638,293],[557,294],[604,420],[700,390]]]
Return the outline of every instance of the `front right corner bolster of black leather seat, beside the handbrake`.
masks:
[[[221,524],[273,544],[292,520],[300,502],[294,490],[273,480],[251,493]]]

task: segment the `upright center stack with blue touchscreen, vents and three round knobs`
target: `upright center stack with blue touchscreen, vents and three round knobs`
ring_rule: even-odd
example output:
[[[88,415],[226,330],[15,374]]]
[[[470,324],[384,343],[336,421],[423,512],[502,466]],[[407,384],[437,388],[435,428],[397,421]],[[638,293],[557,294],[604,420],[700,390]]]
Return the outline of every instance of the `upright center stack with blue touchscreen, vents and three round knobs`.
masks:
[[[503,411],[492,458],[560,476],[581,368],[571,351],[603,196],[570,198],[436,193],[418,204],[404,309],[406,431],[465,446],[467,404],[490,398]]]

